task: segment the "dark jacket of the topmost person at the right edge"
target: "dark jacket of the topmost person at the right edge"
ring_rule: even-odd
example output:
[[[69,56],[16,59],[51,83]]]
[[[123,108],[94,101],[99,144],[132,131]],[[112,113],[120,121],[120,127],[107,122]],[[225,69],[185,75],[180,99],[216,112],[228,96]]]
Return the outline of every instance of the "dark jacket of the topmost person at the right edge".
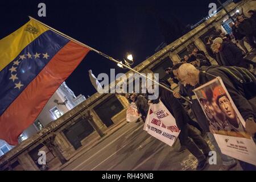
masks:
[[[238,31],[240,32],[240,34],[246,36],[255,34],[255,29],[255,22],[250,18],[246,18],[238,26]]]

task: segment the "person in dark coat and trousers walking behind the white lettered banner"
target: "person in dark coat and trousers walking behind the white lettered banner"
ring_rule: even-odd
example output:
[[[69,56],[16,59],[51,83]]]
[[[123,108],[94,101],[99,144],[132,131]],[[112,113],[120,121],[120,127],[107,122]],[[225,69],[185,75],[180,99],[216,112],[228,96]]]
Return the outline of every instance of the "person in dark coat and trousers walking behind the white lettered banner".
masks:
[[[160,82],[160,84],[166,85],[164,82]],[[168,85],[166,86],[168,87]],[[179,134],[180,144],[187,147],[189,152],[197,158],[197,170],[204,169],[207,165],[207,156],[210,151],[207,142],[188,125],[191,118],[170,91],[159,87],[159,98],[174,116],[177,127],[181,130]]]

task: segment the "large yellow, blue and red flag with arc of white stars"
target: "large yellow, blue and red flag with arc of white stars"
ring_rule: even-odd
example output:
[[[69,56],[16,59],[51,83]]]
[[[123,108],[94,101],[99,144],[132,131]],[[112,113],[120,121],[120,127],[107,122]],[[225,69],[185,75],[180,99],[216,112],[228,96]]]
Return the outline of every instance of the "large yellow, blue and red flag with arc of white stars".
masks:
[[[0,40],[0,139],[11,145],[89,52],[30,20]]]

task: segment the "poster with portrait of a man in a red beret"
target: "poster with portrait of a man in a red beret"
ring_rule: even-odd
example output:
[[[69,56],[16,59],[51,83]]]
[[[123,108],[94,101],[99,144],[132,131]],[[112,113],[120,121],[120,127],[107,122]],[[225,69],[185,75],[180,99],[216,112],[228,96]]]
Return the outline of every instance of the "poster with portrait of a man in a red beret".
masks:
[[[256,165],[256,145],[220,77],[193,90],[222,154]]]

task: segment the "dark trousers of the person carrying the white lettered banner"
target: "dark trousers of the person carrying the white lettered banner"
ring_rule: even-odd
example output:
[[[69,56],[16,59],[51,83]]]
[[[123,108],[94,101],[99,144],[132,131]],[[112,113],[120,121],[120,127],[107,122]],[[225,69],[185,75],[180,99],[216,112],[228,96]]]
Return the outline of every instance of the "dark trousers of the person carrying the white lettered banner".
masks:
[[[188,151],[191,152],[199,162],[205,159],[205,155],[209,154],[210,148],[207,142],[205,142],[188,124],[182,127],[179,139],[181,146],[187,147]],[[203,152],[201,152],[200,149]]]

